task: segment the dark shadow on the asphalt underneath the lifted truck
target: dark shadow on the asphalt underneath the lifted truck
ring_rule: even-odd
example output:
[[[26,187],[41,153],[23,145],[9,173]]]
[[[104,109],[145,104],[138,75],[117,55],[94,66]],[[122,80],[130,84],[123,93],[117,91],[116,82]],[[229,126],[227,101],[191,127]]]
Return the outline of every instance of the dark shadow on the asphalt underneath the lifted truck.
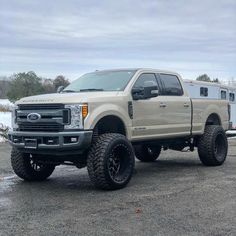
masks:
[[[135,170],[133,178],[130,185],[139,185],[139,179],[142,179],[142,183],[150,183],[150,178],[156,178],[157,181],[161,181],[162,178],[166,180],[172,179],[173,175],[183,176],[184,173],[191,173],[192,171],[198,171],[199,169],[204,169],[204,166],[198,160],[157,160],[152,163],[142,163],[136,160]],[[55,173],[46,181],[43,182],[26,182],[20,179],[15,180],[15,187],[22,191],[22,189],[27,189],[23,191],[37,191],[40,188],[40,191],[48,192],[51,191],[61,193],[65,191],[69,192],[102,192],[94,188],[92,183],[89,180],[88,173],[86,168],[79,170],[77,168],[61,167],[58,168]],[[129,191],[129,186],[126,188],[126,191]],[[13,187],[13,186],[12,186]]]

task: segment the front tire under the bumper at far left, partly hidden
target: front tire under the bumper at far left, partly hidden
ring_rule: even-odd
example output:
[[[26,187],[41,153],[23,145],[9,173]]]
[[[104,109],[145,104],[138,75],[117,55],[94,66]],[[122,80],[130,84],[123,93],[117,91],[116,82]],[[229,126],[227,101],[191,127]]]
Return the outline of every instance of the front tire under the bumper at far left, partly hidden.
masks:
[[[16,148],[11,152],[11,165],[16,175],[27,181],[45,180],[55,169],[54,165],[37,163],[31,154],[22,153]]]

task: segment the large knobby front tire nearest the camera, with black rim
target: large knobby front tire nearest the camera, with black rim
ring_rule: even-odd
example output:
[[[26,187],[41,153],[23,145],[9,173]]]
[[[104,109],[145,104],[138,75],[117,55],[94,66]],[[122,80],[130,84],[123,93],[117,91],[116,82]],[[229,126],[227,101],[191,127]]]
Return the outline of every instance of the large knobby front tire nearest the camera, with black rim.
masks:
[[[124,135],[106,133],[92,144],[87,167],[90,180],[100,189],[125,187],[133,174],[134,152]]]

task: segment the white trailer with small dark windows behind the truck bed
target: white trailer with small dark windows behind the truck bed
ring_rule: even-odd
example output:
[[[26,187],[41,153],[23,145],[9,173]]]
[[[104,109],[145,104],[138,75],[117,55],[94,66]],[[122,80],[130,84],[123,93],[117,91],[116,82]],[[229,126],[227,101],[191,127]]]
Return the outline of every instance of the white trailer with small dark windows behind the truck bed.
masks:
[[[236,129],[236,87],[197,80],[185,80],[184,84],[191,98],[228,100],[231,107],[230,122],[232,129]]]

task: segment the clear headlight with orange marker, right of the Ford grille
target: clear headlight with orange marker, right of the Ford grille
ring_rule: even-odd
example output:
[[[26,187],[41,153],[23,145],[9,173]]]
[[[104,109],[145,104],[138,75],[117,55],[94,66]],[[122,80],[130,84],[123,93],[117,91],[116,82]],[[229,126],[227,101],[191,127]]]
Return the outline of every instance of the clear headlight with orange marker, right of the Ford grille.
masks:
[[[70,109],[70,124],[65,125],[65,129],[83,129],[84,119],[88,115],[88,104],[65,105]]]

